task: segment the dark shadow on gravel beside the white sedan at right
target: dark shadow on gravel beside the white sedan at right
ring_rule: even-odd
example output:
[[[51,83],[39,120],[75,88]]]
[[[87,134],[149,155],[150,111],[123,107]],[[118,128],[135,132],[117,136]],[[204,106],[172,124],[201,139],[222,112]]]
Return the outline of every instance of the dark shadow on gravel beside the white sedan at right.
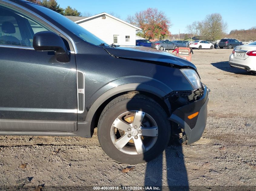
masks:
[[[211,65],[213,65],[214,67],[223,70],[225,72],[230,72],[230,73],[234,73],[234,74],[241,74],[241,75],[252,75],[254,76],[254,73],[250,73],[247,72],[243,69],[239,69],[239,68],[233,68],[229,65],[228,61],[226,62],[215,62],[215,63],[211,63]]]

